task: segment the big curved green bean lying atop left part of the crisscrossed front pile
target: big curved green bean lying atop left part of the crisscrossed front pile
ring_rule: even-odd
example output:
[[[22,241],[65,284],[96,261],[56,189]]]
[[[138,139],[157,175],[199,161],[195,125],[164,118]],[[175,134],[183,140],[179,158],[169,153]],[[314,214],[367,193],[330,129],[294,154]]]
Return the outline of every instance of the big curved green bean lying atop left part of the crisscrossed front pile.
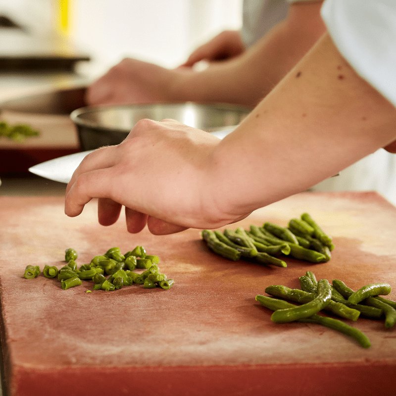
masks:
[[[271,315],[271,320],[276,323],[293,322],[297,319],[307,318],[319,312],[331,301],[331,287],[326,279],[318,282],[317,296],[305,304],[297,307],[280,309]]]

